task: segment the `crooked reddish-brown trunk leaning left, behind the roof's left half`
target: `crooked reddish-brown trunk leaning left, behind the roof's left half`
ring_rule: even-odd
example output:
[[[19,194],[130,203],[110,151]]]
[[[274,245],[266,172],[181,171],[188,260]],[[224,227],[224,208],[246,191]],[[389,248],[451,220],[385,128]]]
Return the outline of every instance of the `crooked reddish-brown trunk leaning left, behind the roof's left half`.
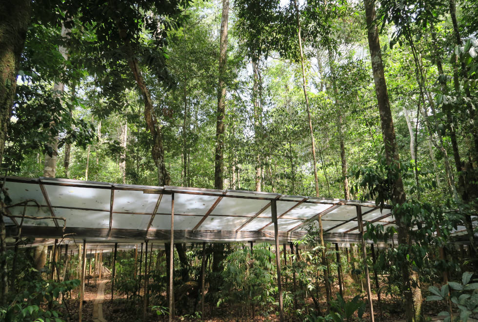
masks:
[[[112,6],[113,9],[116,9],[115,6]],[[151,101],[151,94],[149,89],[146,86],[141,70],[139,69],[138,60],[136,59],[133,49],[127,37],[126,30],[121,28],[119,19],[117,19],[117,26],[119,37],[123,40],[125,44],[126,53],[129,56],[128,66],[133,73],[136,84],[138,85],[139,91],[143,95],[144,99],[144,119],[146,121],[146,126],[151,137],[153,139],[153,148],[151,150],[151,155],[153,161],[158,168],[158,184],[159,185],[169,185],[171,184],[171,176],[169,175],[168,169],[166,168],[166,162],[164,161],[164,142],[162,137],[162,125],[158,119],[154,116],[153,113],[153,101]]]

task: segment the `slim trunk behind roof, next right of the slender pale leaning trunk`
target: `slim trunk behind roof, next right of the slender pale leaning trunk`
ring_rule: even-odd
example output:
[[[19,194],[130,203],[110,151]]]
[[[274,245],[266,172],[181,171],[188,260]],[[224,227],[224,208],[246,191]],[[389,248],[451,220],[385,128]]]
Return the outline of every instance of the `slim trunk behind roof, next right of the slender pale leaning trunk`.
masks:
[[[330,74],[332,76],[332,88],[334,90],[335,104],[339,109],[337,112],[337,127],[339,132],[340,162],[342,165],[343,195],[346,200],[349,200],[349,180],[347,178],[347,159],[345,158],[345,143],[343,135],[343,110],[341,102],[339,102],[339,92],[337,90],[337,81],[334,65],[334,54],[332,52],[332,46],[330,44],[328,45],[327,51],[329,58]]]

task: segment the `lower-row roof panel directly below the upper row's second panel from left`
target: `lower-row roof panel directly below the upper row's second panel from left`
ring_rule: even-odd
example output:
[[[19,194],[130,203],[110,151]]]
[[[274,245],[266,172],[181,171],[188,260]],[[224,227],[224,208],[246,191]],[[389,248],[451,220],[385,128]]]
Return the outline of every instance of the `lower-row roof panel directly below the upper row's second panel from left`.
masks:
[[[109,228],[110,213],[108,211],[91,211],[65,208],[53,208],[57,217],[66,218],[67,227]],[[62,225],[63,222],[58,222]]]

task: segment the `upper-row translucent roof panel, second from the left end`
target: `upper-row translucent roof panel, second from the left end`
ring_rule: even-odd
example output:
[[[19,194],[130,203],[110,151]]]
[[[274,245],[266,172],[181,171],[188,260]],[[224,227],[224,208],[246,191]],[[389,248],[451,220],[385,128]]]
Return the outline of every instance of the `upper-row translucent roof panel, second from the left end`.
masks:
[[[52,206],[110,210],[111,190],[44,185]]]

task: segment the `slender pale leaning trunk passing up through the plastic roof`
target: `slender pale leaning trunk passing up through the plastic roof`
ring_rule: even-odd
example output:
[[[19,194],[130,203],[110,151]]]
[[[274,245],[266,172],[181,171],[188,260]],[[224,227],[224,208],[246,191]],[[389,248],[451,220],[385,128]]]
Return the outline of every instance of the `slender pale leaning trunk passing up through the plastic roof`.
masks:
[[[297,14],[297,37],[299,38],[299,52],[300,52],[300,63],[302,66],[302,88],[304,90],[304,98],[305,98],[305,105],[307,107],[307,119],[309,121],[309,130],[310,130],[310,139],[312,143],[312,160],[314,163],[314,179],[315,179],[315,187],[316,187],[316,197],[319,197],[319,179],[317,177],[317,161],[316,161],[316,147],[315,147],[315,139],[314,139],[314,129],[312,127],[312,118],[310,115],[310,104],[309,98],[307,96],[307,84],[305,81],[305,66],[304,66],[304,53],[302,49],[302,37],[300,35],[300,16],[299,16],[299,6],[297,5],[297,0],[294,0],[294,6],[296,8]],[[320,238],[320,245],[322,246],[322,263],[324,267],[324,285],[325,285],[325,295],[327,299],[327,308],[330,308],[330,299],[332,297],[332,288],[329,282],[329,265],[327,262],[327,256],[325,251],[325,243],[323,239],[323,227],[322,227],[322,219],[319,217],[319,238]]]

